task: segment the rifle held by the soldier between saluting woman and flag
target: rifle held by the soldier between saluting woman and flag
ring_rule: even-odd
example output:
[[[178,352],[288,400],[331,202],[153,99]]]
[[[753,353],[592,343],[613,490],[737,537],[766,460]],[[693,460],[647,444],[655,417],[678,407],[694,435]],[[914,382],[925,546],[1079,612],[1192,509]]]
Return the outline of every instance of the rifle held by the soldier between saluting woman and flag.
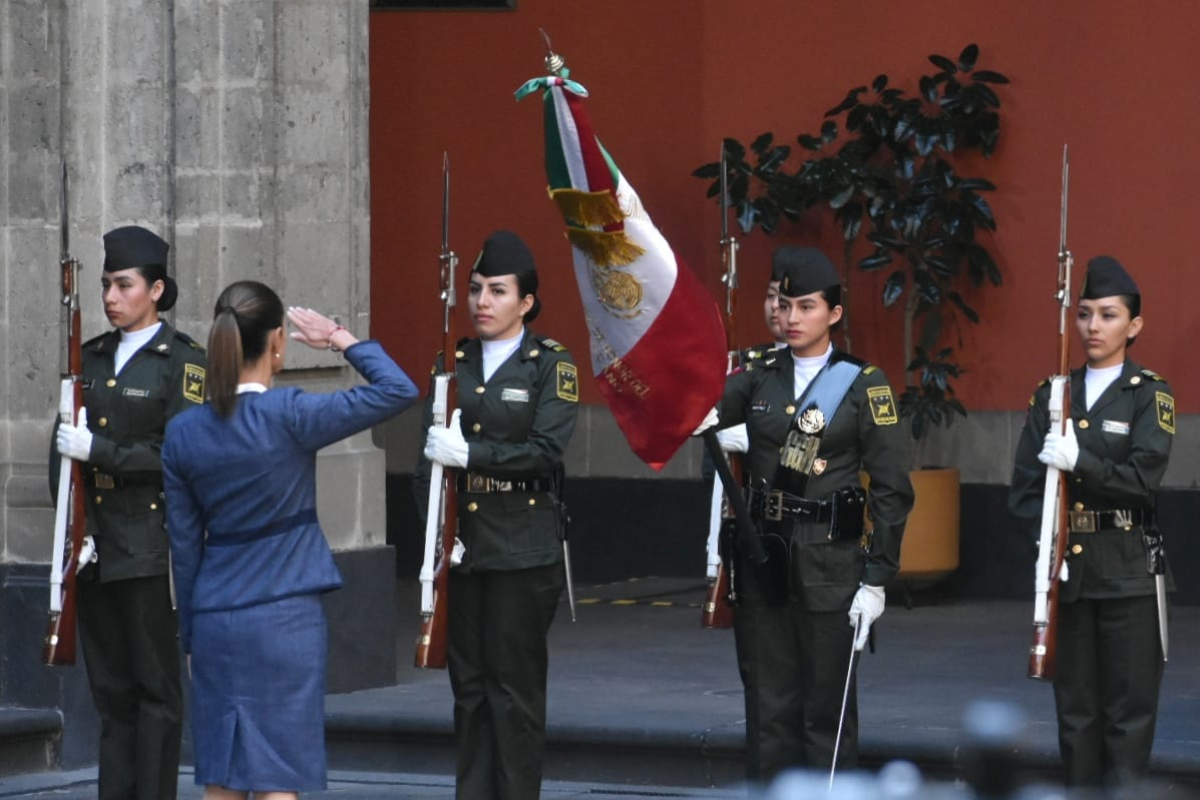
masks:
[[[450,391],[455,371],[454,308],[455,269],[458,257],[450,249],[450,156],[442,154],[442,372],[433,375],[433,425],[446,426],[454,411]],[[421,563],[421,632],[414,664],[444,669],[449,626],[450,557],[458,533],[458,498],[455,476],[434,462],[430,473],[430,499],[425,516],[425,560]],[[434,564],[434,555],[437,563]]]

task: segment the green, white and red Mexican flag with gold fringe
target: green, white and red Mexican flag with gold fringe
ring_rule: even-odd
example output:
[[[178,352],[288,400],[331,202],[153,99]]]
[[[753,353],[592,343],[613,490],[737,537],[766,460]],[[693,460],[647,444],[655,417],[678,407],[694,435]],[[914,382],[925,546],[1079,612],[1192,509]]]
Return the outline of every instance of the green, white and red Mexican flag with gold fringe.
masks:
[[[596,385],[629,446],[661,469],[721,397],[720,311],[600,145],[587,90],[560,76],[516,96],[542,94],[550,196],[571,242]]]

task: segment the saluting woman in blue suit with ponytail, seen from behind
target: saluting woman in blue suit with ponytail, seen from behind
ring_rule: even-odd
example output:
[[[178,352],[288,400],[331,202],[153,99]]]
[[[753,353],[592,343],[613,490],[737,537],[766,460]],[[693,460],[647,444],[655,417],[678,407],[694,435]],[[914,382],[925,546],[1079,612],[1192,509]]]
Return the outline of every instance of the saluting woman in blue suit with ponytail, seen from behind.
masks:
[[[418,395],[378,342],[311,309],[288,319],[292,338],[344,351],[367,385],[269,389],[287,344],[283,303],[262,283],[234,283],[209,333],[209,403],[172,420],[162,451],[205,800],[325,788],[320,594],[342,579],[317,522],[317,451]]]

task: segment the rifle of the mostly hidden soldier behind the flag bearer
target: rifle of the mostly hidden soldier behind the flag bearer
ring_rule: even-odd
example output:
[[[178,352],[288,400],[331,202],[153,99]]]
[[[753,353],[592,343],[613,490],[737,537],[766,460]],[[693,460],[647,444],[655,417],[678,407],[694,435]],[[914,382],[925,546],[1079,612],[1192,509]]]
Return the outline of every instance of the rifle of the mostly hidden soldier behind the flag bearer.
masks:
[[[738,336],[737,336],[737,307],[738,307],[738,240],[730,235],[730,192],[728,192],[728,168],[725,160],[725,143],[721,143],[721,264],[725,266],[725,275],[721,283],[725,284],[725,342],[728,351],[727,371],[732,372],[738,366]],[[725,453],[713,456],[713,458],[725,458]],[[742,459],[731,458],[731,473],[740,485]],[[733,603],[737,601],[733,581],[731,579],[733,559],[722,559],[720,554],[721,530],[726,521],[731,517],[731,507],[725,493],[721,491],[721,482],[713,480],[713,501],[709,507],[708,523],[708,589],[704,596],[704,604],[701,610],[701,627],[732,627]]]

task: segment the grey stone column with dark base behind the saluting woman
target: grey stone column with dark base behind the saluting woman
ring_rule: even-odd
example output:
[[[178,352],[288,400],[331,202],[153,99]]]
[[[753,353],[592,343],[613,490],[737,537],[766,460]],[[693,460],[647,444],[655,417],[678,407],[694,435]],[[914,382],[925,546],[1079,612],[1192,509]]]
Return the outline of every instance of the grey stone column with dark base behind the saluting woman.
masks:
[[[367,0],[0,0],[0,705],[64,708],[65,763],[88,760],[94,732],[76,752],[71,732],[90,711],[82,667],[38,663],[61,369],[60,164],[85,338],[107,326],[101,235],[122,224],[170,242],[172,323],[200,342],[217,293],[240,278],[365,337],[367,42]],[[288,361],[284,381],[306,389],[355,380],[334,354],[292,348]],[[330,685],[391,682],[391,625],[354,652],[365,670],[340,657],[364,638],[343,622],[349,608],[392,616],[383,455],[361,434],[319,464],[320,517],[347,578],[328,604]]]

